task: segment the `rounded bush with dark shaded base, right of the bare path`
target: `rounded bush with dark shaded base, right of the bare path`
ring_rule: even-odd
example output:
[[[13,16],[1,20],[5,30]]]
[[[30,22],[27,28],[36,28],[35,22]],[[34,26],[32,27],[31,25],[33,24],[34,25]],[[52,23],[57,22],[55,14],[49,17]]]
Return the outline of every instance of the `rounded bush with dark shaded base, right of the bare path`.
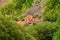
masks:
[[[46,14],[43,14],[44,16],[44,21],[49,21],[49,22],[56,22],[57,21],[57,13],[55,11],[51,10]]]

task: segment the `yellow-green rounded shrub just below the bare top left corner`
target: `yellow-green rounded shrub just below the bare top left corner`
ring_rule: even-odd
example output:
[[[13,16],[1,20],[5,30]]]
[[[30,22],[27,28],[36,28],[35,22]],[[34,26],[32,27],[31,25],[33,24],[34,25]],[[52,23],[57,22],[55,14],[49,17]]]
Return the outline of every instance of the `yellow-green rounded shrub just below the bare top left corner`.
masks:
[[[6,6],[2,7],[0,11],[3,15],[11,15],[15,10],[13,4],[7,4]]]

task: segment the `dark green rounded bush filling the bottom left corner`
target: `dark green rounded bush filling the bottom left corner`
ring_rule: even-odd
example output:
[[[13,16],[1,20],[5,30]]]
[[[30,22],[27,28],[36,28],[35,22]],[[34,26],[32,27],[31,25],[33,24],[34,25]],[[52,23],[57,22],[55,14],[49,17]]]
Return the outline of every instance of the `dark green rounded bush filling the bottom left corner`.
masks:
[[[0,40],[24,40],[24,34],[18,27],[16,23],[0,17]]]

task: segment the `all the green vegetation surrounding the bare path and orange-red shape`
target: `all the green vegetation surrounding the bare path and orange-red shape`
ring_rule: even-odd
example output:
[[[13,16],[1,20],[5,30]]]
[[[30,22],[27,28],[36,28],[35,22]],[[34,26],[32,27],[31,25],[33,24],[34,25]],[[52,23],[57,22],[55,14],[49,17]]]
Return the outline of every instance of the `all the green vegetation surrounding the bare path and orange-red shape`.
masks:
[[[0,40],[60,40],[60,0],[46,0],[42,22],[18,24],[17,20],[24,21],[27,15],[21,15],[32,8],[32,3],[33,0],[11,0],[0,7]],[[33,17],[41,16],[35,14]]]

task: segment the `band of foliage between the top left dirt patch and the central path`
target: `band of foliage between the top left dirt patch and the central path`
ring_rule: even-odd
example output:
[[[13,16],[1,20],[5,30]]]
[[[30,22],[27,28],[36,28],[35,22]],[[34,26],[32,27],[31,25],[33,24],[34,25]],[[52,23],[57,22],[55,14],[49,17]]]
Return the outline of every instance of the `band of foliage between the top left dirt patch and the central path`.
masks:
[[[1,7],[0,11],[3,15],[20,15],[23,10],[32,6],[32,2],[33,0],[12,0],[12,2]]]

